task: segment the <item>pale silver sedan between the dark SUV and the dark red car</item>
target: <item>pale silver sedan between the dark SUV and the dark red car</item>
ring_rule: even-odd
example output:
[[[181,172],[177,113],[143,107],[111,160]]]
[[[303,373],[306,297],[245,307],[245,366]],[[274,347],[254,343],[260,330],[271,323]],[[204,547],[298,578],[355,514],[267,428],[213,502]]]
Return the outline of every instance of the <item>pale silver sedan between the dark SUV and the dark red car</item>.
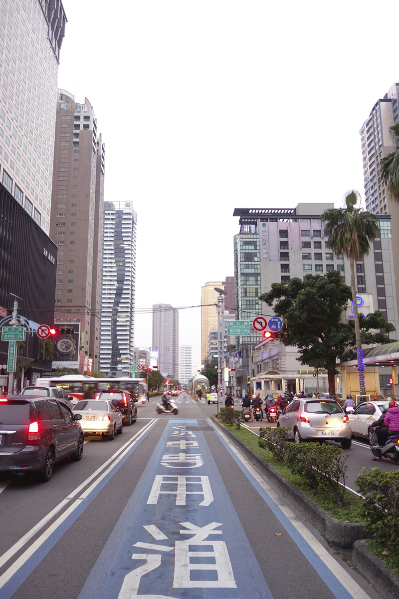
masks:
[[[120,435],[123,431],[123,414],[112,401],[81,400],[72,412],[81,414],[80,423],[85,435],[113,439],[115,432]]]

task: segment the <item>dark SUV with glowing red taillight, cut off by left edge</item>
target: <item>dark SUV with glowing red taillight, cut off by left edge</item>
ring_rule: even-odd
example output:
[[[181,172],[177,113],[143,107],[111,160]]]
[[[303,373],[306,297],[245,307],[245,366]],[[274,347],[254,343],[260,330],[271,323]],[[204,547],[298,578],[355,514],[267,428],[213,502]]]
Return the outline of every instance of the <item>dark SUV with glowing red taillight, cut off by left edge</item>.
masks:
[[[40,480],[50,480],[55,462],[82,458],[81,418],[55,398],[0,397],[0,471],[36,471]]]

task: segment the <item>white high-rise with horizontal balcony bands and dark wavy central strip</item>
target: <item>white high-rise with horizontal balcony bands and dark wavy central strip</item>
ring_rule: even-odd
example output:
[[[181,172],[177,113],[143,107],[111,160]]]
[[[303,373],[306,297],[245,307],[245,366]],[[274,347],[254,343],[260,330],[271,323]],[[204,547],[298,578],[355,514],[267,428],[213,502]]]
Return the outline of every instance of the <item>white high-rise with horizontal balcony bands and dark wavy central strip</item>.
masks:
[[[100,370],[111,376],[135,363],[136,227],[132,202],[104,202]]]

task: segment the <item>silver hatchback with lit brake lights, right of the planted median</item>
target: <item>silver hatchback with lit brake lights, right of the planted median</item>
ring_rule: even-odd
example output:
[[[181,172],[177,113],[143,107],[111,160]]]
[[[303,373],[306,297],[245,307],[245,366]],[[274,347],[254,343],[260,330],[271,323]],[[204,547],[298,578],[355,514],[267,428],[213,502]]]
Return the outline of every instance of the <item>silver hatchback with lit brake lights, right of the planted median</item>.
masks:
[[[338,441],[343,449],[352,444],[352,429],[342,407],[334,400],[297,399],[291,401],[277,426],[290,429],[290,437],[301,441]]]

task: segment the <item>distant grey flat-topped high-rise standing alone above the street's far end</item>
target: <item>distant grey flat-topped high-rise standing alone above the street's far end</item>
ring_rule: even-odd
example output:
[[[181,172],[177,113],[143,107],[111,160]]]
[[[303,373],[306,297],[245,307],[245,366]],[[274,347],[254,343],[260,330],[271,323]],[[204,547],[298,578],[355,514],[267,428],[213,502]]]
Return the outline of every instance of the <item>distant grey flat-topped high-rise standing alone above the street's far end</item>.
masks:
[[[160,373],[179,377],[179,310],[170,304],[153,304],[153,350]]]

